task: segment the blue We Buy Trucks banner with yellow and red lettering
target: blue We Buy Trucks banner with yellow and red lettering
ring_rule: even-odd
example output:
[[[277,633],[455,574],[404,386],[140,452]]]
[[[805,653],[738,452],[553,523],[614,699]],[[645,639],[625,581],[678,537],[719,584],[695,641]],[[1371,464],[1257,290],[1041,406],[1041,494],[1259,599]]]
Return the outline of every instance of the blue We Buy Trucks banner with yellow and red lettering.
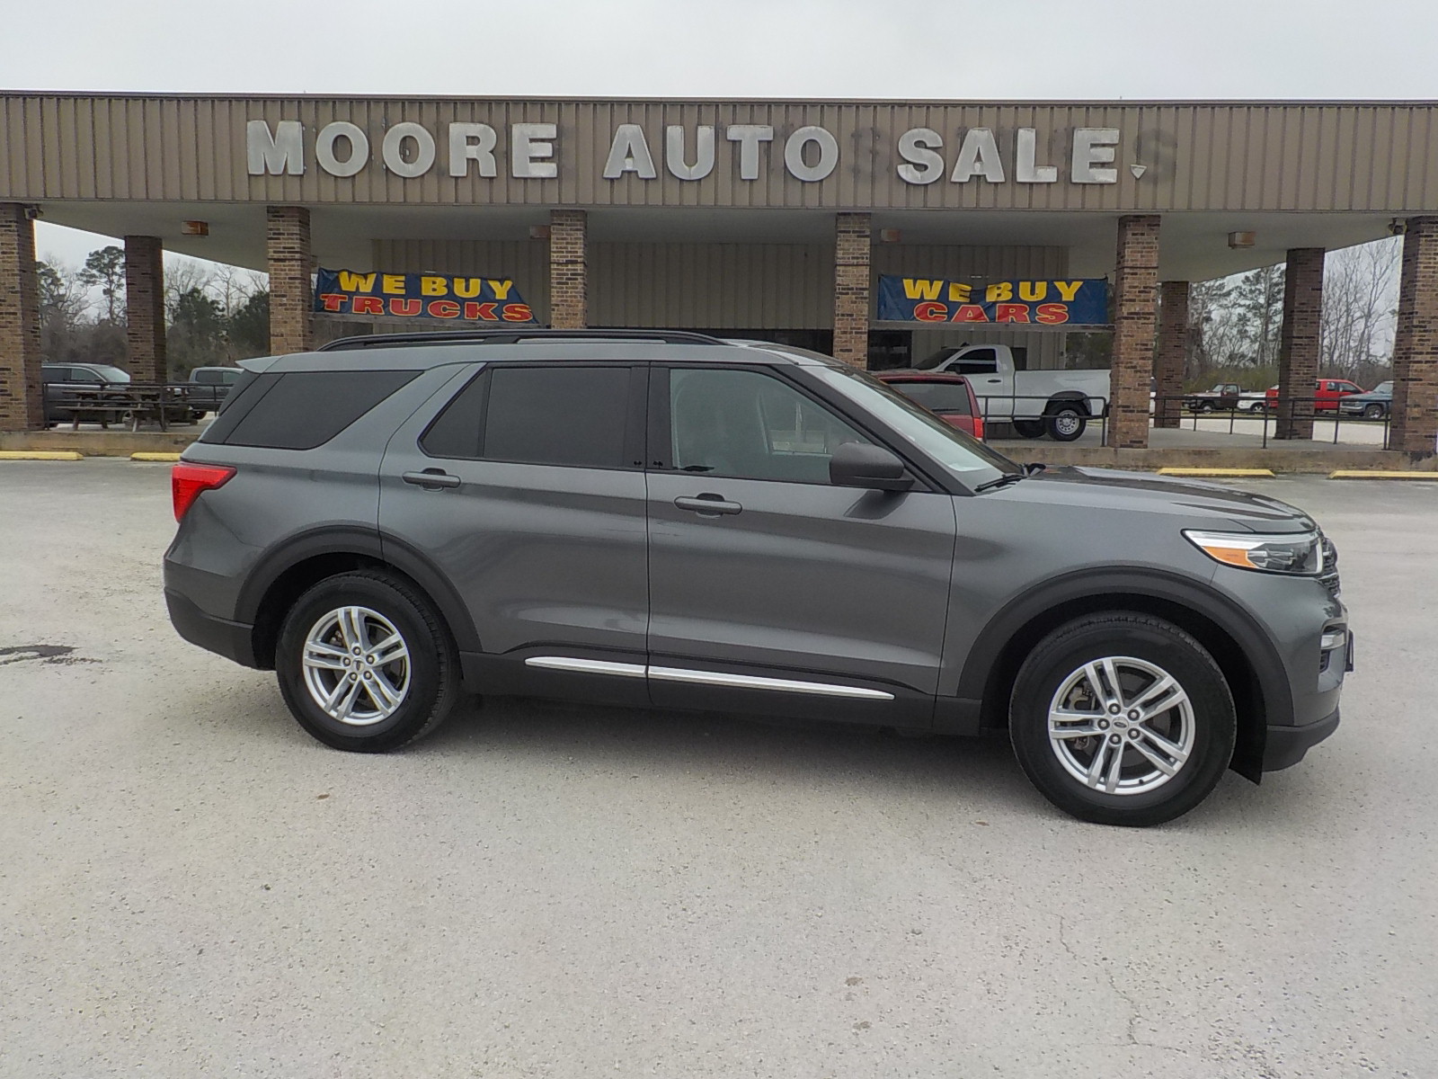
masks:
[[[463,322],[533,322],[510,278],[443,273],[355,273],[321,269],[315,311],[326,315],[384,315]]]

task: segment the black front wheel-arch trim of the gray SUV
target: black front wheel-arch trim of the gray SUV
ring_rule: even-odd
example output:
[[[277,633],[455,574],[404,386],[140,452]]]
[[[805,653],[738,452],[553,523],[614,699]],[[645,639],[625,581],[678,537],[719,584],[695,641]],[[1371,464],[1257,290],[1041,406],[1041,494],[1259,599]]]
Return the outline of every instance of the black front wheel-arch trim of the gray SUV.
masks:
[[[1063,604],[1117,596],[1185,607],[1214,624],[1247,656],[1263,693],[1264,724],[1293,722],[1293,689],[1287,670],[1257,619],[1222,593],[1188,577],[1148,567],[1078,570],[1041,581],[1001,607],[979,632],[959,673],[958,696],[984,701],[1001,657],[1018,633]],[[1114,600],[1122,609],[1122,600]],[[1057,629],[1057,624],[1051,629]]]

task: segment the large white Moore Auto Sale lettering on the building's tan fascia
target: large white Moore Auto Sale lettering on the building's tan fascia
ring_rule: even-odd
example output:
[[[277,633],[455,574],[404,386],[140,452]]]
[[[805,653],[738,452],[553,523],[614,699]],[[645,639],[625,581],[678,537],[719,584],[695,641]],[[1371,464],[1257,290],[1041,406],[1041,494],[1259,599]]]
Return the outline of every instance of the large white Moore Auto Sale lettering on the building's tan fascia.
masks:
[[[403,121],[367,131],[344,119],[318,128],[298,119],[252,119],[244,134],[250,176],[305,176],[316,167],[334,177],[383,168],[403,178],[439,171],[453,178],[505,174],[545,180],[559,176],[564,164],[559,125],[552,122]],[[591,164],[604,180],[656,180],[664,173],[700,181],[722,167],[741,181],[758,181],[782,165],[794,180],[815,184],[843,164],[840,140],[817,124],[788,132],[772,124],[615,124],[597,138],[604,138],[608,150],[597,148]],[[889,152],[893,174],[912,186],[1055,184],[1061,177],[1070,184],[1113,184],[1119,178],[1119,128],[1107,127],[1060,132],[915,127],[900,132]],[[1142,174],[1142,165],[1133,170],[1135,177]]]

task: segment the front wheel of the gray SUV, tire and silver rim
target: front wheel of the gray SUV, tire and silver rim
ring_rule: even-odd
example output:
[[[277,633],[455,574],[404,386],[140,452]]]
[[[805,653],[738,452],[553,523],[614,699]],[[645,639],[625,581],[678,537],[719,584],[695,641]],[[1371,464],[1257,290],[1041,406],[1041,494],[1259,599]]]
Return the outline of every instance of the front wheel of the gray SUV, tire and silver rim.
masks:
[[[1100,708],[1106,663],[1123,692]],[[1100,692],[1094,676],[1104,683]],[[1169,691],[1148,708],[1172,704],[1135,722],[1142,714],[1135,705],[1163,678],[1173,679],[1183,699]],[[1053,722],[1058,706],[1076,718]],[[1044,637],[1024,660],[1009,701],[1009,738],[1030,781],[1058,809],[1099,824],[1146,827],[1188,813],[1222,777],[1237,729],[1228,683],[1204,646],[1169,622],[1129,611],[1087,614]],[[1113,738],[1125,739],[1117,757]],[[1094,765],[1097,775],[1086,780]]]

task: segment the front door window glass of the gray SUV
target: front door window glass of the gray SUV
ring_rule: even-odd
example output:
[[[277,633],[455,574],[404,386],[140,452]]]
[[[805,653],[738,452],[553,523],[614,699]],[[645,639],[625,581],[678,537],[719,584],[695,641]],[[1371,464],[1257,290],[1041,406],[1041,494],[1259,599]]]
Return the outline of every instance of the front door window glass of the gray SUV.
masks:
[[[676,368],[669,375],[673,468],[741,479],[827,483],[830,455],[863,434],[761,371]]]

